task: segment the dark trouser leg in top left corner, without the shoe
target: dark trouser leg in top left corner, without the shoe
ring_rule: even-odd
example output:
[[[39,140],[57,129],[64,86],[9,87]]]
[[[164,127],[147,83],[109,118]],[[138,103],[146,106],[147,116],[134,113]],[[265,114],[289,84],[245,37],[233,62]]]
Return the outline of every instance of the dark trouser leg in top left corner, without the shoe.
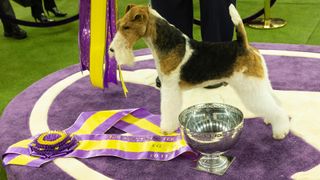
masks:
[[[4,31],[11,32],[12,28],[17,25],[4,19],[4,17],[3,17],[3,16],[8,16],[8,17],[12,17],[12,18],[16,17],[9,0],[0,0],[0,15],[1,15],[0,18],[1,18],[1,22],[3,24]]]

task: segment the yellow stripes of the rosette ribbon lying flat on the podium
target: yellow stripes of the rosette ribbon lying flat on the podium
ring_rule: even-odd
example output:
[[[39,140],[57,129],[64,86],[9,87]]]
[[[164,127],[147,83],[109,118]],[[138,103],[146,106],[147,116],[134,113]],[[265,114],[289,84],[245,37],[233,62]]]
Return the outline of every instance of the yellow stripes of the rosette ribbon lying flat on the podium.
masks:
[[[92,133],[99,125],[108,121],[110,117],[118,113],[120,110],[109,110],[109,111],[99,111],[91,115],[80,127],[80,129],[73,134],[90,134]],[[159,136],[164,136],[161,132],[160,127],[152,122],[148,121],[145,118],[137,118],[131,114],[121,118],[124,122],[128,124],[135,125],[141,129],[147,130]],[[178,136],[178,133],[172,133],[169,136]],[[28,145],[32,142],[31,139],[25,139],[19,141],[10,148],[28,148]],[[174,152],[182,147],[187,146],[184,138],[181,138],[179,141],[174,142],[158,142],[158,141],[144,141],[144,142],[128,142],[121,140],[81,140],[79,141],[79,146],[75,150],[101,150],[101,149],[115,149],[125,152]],[[18,155],[8,162],[8,164],[15,165],[27,165],[34,160],[39,159],[39,157],[27,156],[27,155]]]

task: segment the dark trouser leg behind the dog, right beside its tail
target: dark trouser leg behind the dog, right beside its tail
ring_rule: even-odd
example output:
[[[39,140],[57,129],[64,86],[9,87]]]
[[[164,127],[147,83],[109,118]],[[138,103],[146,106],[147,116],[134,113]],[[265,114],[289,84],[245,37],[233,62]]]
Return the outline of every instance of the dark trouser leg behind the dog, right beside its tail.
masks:
[[[234,26],[229,15],[230,3],[236,0],[200,0],[201,36],[203,41],[231,41]]]

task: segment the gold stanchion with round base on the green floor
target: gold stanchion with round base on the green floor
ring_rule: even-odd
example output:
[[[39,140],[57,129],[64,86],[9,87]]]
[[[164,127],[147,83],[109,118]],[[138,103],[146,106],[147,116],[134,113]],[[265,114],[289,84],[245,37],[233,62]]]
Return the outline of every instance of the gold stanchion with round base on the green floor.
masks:
[[[264,1],[264,18],[257,18],[247,23],[249,27],[256,29],[275,29],[283,27],[287,21],[280,18],[271,18],[270,0]]]

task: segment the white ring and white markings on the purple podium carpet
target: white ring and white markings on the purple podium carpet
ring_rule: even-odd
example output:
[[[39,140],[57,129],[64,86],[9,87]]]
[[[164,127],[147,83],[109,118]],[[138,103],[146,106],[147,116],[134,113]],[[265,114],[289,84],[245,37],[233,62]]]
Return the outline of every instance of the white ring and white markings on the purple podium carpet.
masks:
[[[320,59],[320,53],[286,50],[260,51],[263,55]],[[150,55],[144,55],[137,57],[137,60],[144,61],[150,60],[151,58],[152,56]],[[87,71],[72,74],[57,82],[43,93],[34,105],[29,118],[29,128],[33,136],[50,130],[48,126],[48,112],[55,98],[68,86],[72,85],[77,80],[88,76],[88,74],[89,73]],[[157,72],[155,69],[123,71],[123,76],[126,82],[155,86],[154,80],[157,76]],[[128,95],[130,96],[130,94]],[[320,141],[318,141],[320,139],[320,117],[317,116],[320,107],[320,92],[276,91],[276,95],[282,101],[283,107],[293,117],[291,122],[291,131],[320,150]],[[222,102],[240,108],[244,112],[245,117],[253,117],[253,114],[246,110],[240,99],[230,87],[223,87],[214,90],[207,90],[203,88],[190,90],[184,93],[183,99],[183,108],[203,102]],[[303,110],[301,110],[302,107]],[[58,158],[54,160],[54,163],[75,179],[110,179],[75,158]],[[315,176],[317,174],[320,174],[320,165],[308,172],[296,173],[292,177],[295,179],[304,179],[308,177],[317,177]]]

